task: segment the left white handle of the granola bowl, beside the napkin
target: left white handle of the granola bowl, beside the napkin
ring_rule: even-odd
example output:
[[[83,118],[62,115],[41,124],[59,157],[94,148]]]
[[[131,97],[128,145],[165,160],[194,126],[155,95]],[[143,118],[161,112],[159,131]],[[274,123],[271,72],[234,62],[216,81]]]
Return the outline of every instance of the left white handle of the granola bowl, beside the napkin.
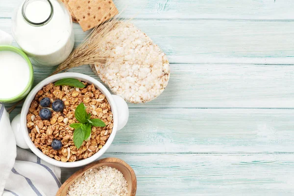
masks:
[[[21,127],[21,114],[18,114],[16,117],[14,117],[14,119],[11,122],[11,127],[16,140],[16,145],[18,147],[28,149],[29,147],[25,142],[25,138],[23,136],[23,131]]]

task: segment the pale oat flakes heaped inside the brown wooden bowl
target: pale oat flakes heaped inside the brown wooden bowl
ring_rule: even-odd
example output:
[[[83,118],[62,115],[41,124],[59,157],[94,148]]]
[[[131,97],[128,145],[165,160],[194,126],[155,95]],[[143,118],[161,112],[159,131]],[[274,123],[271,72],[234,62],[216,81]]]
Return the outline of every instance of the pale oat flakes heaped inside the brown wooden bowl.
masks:
[[[126,196],[127,182],[123,173],[115,168],[102,166],[91,169],[77,178],[67,196]]]

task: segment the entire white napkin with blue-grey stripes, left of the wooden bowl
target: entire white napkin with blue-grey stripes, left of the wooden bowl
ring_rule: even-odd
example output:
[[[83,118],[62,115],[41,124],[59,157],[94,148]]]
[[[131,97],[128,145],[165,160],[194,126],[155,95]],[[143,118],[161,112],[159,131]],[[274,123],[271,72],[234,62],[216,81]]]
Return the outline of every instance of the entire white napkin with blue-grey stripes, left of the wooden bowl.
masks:
[[[0,196],[55,196],[61,170],[16,148],[9,115],[0,103]]]

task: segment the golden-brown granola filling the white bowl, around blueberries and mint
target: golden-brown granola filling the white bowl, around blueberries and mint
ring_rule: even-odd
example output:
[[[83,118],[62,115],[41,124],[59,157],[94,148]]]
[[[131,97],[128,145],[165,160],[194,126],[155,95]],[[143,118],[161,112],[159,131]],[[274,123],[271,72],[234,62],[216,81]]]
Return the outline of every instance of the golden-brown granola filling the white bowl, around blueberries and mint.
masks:
[[[113,128],[113,115],[110,104],[93,84],[83,82],[86,87],[54,86],[53,83],[44,86],[31,102],[26,116],[29,137],[34,145],[47,156],[62,162],[73,162],[93,156],[107,142]],[[56,99],[64,102],[62,112],[48,108],[52,117],[42,120],[39,116],[43,108],[39,103],[42,98],[50,98],[50,105]],[[78,149],[73,143],[72,123],[78,123],[74,117],[75,108],[83,102],[91,118],[101,119],[105,127],[92,127],[91,137],[84,141]],[[54,150],[50,146],[54,139],[60,140],[62,147]]]

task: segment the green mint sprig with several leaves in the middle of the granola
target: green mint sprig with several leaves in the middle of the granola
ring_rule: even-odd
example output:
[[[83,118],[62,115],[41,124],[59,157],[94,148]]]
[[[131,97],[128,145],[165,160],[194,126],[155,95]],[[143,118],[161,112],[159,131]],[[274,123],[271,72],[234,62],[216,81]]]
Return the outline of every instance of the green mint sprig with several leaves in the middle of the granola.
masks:
[[[91,119],[91,114],[87,113],[84,103],[75,108],[74,117],[79,123],[72,123],[70,127],[74,128],[73,143],[77,148],[81,147],[83,141],[90,137],[92,126],[106,126],[100,119]]]

